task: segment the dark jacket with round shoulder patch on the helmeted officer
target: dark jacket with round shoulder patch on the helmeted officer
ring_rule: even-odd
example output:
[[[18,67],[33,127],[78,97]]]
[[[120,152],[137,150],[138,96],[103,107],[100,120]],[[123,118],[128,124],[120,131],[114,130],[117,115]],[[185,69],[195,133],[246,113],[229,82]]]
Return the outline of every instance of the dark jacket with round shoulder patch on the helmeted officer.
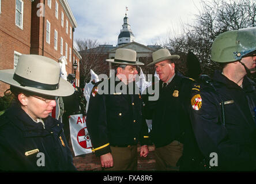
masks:
[[[210,155],[216,153],[217,170],[255,170],[255,83],[245,76],[239,87],[216,71],[212,81],[197,83],[192,91],[191,122],[205,159],[216,159]]]

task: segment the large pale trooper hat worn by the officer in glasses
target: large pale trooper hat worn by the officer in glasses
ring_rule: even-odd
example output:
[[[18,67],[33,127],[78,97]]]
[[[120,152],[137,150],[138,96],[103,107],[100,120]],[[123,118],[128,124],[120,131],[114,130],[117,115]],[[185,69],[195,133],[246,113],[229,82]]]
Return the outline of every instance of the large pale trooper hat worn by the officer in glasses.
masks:
[[[16,69],[0,70],[0,81],[43,95],[65,97],[74,87],[60,78],[59,64],[45,56],[21,55]]]

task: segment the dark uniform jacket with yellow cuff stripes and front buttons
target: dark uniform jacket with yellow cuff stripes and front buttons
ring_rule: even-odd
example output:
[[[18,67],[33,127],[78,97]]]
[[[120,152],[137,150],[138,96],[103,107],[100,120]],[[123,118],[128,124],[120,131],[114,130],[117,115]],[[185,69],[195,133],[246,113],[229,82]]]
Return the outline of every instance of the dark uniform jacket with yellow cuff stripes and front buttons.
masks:
[[[93,87],[86,117],[92,151],[96,156],[111,152],[110,145],[126,147],[137,145],[138,141],[141,145],[148,144],[149,137],[145,118],[142,117],[141,95],[139,90],[135,90],[134,82],[129,85],[133,85],[133,89],[138,93],[127,94],[128,85],[111,81],[111,78],[106,80],[108,86],[102,86],[103,82],[106,82],[103,81]],[[114,82],[115,89],[126,86],[127,93],[111,91],[111,82]],[[104,91],[106,87],[108,90],[100,94],[99,90]]]

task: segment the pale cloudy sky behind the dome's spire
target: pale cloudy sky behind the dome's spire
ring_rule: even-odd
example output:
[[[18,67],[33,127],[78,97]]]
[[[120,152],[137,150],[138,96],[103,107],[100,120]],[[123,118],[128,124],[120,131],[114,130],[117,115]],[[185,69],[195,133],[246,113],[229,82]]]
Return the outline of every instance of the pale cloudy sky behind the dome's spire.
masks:
[[[179,32],[181,22],[192,23],[201,0],[68,0],[78,27],[76,39],[116,45],[127,17],[137,43],[152,45],[168,33]]]

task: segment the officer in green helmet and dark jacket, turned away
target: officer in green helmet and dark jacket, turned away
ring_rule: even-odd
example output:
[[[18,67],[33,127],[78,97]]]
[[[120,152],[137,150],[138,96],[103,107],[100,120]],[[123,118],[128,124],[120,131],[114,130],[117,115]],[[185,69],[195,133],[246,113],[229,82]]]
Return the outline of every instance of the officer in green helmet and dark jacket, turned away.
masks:
[[[255,51],[256,28],[220,34],[211,59],[222,71],[192,89],[191,121],[208,169],[256,169],[256,90],[247,76],[255,72]]]

